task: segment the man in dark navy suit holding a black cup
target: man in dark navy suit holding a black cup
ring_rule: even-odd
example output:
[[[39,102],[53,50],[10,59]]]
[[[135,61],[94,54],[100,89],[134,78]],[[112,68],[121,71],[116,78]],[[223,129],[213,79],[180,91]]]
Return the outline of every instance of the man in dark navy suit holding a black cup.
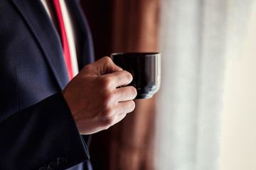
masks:
[[[137,91],[125,86],[131,74],[109,57],[90,64],[92,40],[78,1],[65,5],[80,69],[71,81],[47,7],[0,1],[0,169],[82,169],[90,134],[134,110]]]

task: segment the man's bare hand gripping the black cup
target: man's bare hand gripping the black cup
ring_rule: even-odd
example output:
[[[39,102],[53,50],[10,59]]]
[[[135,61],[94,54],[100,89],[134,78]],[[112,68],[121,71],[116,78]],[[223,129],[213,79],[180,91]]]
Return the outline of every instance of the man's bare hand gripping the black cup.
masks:
[[[110,128],[132,112],[137,96],[132,74],[115,65],[110,57],[85,66],[63,89],[78,130],[88,135]],[[117,88],[124,86],[122,88]]]

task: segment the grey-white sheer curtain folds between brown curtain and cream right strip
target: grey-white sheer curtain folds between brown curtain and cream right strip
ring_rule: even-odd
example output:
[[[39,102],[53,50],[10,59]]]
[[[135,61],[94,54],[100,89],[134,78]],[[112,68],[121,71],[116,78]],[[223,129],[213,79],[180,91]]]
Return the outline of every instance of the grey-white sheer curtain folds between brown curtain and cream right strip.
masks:
[[[161,1],[156,169],[217,169],[226,3]]]

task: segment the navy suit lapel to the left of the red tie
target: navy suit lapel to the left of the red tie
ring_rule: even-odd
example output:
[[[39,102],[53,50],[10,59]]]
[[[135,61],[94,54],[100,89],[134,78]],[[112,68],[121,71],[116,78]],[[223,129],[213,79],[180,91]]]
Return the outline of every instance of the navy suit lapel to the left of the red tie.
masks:
[[[68,84],[60,37],[40,0],[12,0],[40,45],[60,89]]]

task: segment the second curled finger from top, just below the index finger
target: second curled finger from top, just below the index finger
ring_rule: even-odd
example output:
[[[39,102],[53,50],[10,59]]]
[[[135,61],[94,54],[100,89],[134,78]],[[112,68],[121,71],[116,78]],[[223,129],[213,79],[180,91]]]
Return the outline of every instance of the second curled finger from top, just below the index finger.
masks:
[[[115,90],[117,101],[133,100],[137,96],[137,90],[134,86],[125,86]]]

